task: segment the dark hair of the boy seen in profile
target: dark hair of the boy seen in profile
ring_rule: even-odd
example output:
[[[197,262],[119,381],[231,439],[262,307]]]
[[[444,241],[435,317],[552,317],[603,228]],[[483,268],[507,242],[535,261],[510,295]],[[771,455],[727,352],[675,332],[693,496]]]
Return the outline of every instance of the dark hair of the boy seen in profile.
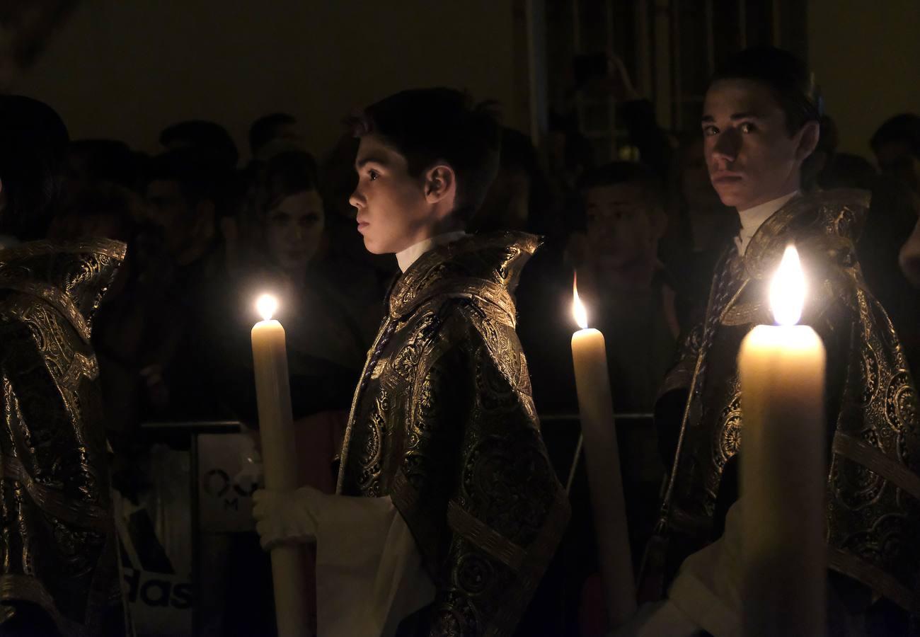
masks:
[[[412,177],[439,161],[454,168],[454,214],[466,221],[499,170],[501,128],[494,106],[474,105],[466,93],[452,88],[417,88],[381,99],[349,123],[355,136],[379,135],[406,157]]]

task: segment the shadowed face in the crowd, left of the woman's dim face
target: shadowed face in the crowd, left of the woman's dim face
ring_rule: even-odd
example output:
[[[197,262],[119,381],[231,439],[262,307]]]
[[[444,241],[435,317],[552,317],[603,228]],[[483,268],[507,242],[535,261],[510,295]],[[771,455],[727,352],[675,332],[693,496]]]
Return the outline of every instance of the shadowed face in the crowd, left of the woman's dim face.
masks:
[[[178,255],[213,237],[213,202],[191,203],[178,181],[151,181],[147,185],[147,203],[153,221],[163,227],[167,247],[173,254]]]

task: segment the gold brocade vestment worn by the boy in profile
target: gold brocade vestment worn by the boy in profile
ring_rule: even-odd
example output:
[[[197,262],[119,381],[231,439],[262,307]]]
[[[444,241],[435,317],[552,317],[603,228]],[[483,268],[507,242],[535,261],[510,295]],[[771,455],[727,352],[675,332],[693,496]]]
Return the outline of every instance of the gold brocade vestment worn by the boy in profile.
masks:
[[[397,506],[437,588],[431,635],[510,634],[568,522],[514,331],[537,245],[502,232],[420,257],[352,405],[339,493]]]

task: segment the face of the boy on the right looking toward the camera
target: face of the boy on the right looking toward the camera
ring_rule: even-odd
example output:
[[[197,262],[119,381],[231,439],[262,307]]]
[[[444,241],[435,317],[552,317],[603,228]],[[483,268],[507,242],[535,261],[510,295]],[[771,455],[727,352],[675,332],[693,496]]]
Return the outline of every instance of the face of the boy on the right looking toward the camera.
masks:
[[[789,134],[786,113],[762,83],[719,80],[707,91],[704,154],[725,205],[747,210],[797,191],[802,162],[817,143],[817,122]]]

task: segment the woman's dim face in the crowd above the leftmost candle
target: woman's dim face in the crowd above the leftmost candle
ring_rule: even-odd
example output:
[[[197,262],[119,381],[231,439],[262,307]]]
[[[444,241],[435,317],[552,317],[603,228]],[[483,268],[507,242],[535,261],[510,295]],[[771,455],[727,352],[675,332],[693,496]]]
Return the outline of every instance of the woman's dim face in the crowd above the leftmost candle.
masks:
[[[265,237],[271,257],[285,271],[305,270],[316,256],[326,214],[316,191],[284,197],[266,215]]]

